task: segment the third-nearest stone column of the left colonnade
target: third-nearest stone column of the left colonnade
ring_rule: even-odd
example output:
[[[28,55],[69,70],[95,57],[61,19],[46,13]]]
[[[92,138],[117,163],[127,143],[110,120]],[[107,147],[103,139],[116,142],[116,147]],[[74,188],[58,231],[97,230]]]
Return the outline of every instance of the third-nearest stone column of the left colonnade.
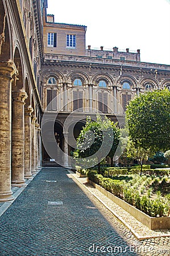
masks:
[[[25,160],[25,172],[26,179],[32,177],[31,174],[31,113],[33,108],[28,106],[24,111],[24,124],[25,124],[25,143],[24,143],[24,160]]]

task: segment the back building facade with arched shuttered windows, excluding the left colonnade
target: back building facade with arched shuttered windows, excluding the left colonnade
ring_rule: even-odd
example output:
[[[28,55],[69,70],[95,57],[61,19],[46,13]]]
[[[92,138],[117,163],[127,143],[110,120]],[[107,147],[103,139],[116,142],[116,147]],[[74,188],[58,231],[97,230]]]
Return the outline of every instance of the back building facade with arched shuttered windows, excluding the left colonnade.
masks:
[[[142,63],[139,49],[86,48],[85,33],[85,26],[55,23],[53,15],[44,19],[43,112],[51,118],[57,113],[56,140],[68,155],[76,146],[72,137],[78,136],[88,115],[104,113],[122,127],[128,101],[146,90],[170,89],[169,65]],[[58,154],[55,160],[60,158]],[[44,163],[49,159],[44,150]]]

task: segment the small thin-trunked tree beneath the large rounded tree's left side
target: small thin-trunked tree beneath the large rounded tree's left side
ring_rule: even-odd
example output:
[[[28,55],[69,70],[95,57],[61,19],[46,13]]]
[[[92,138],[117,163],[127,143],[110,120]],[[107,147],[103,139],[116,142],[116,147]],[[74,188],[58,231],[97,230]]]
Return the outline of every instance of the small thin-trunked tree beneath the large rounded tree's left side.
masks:
[[[140,164],[140,175],[142,175],[143,161],[148,159],[150,148],[143,148],[139,143],[134,143],[130,138],[127,142],[127,156],[138,160]]]

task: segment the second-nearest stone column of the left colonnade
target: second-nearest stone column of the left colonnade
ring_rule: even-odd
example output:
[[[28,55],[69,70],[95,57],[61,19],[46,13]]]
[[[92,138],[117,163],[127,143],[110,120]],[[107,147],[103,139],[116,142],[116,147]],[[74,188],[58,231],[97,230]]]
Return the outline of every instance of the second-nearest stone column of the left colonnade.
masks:
[[[27,93],[12,92],[12,185],[26,185],[24,180],[24,100]]]

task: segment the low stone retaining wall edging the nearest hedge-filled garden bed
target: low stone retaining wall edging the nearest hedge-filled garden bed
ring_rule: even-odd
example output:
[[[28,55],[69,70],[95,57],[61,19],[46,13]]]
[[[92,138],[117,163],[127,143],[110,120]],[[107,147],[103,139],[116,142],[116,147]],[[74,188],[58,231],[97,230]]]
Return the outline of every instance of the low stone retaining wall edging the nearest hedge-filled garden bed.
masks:
[[[132,205],[126,203],[122,199],[119,199],[117,196],[114,196],[109,191],[106,191],[105,188],[94,183],[92,180],[87,178],[87,182],[93,185],[94,188],[98,189],[103,195],[107,196],[115,204],[118,204],[126,212],[130,213],[131,216],[135,217],[136,220],[140,221],[142,224],[146,225],[148,228],[155,229],[170,229],[170,217],[150,217],[146,213],[143,213],[141,210],[133,207]]]

